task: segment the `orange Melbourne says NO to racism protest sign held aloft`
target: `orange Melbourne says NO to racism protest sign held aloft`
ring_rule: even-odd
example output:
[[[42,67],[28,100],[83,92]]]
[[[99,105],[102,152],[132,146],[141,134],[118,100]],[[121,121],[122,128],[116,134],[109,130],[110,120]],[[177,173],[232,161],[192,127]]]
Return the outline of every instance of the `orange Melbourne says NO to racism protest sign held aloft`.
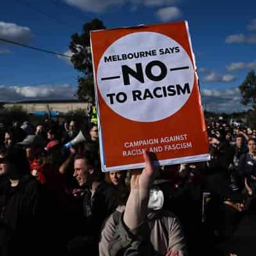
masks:
[[[209,160],[187,22],[91,31],[102,170]]]

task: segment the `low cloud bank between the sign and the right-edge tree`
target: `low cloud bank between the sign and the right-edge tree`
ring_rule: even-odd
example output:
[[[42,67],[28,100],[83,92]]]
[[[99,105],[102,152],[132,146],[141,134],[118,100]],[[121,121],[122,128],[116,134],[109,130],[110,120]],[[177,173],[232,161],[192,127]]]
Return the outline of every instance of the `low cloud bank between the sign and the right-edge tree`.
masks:
[[[238,88],[229,89],[203,89],[201,90],[204,109],[208,111],[232,113],[246,111],[250,106],[244,106],[241,102],[241,93]]]

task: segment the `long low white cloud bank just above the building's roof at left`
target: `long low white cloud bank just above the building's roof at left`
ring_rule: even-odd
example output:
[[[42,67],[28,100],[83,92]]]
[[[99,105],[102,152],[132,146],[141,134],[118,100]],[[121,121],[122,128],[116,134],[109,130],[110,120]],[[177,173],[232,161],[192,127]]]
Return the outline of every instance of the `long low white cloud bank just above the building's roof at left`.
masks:
[[[17,101],[29,99],[74,99],[76,88],[70,84],[40,86],[0,85],[0,101]]]

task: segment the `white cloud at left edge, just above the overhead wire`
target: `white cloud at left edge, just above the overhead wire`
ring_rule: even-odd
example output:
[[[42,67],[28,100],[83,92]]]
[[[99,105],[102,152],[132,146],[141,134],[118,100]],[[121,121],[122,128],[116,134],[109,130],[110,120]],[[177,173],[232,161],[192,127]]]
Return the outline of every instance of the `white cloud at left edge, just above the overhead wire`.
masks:
[[[31,40],[31,30],[28,27],[0,21],[0,37],[6,40],[27,44]],[[3,44],[3,42],[0,41]]]

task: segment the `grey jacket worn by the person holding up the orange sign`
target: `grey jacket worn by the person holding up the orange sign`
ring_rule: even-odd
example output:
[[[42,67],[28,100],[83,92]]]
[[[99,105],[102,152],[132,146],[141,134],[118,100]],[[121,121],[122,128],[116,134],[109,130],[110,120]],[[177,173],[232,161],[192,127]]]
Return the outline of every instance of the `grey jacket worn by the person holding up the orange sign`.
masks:
[[[118,207],[106,221],[100,237],[100,256],[160,256],[166,255],[171,250],[178,251],[179,256],[187,255],[180,222],[171,212],[161,210],[150,212],[148,225],[141,227],[143,236],[134,237],[122,220],[123,211],[124,207]]]

